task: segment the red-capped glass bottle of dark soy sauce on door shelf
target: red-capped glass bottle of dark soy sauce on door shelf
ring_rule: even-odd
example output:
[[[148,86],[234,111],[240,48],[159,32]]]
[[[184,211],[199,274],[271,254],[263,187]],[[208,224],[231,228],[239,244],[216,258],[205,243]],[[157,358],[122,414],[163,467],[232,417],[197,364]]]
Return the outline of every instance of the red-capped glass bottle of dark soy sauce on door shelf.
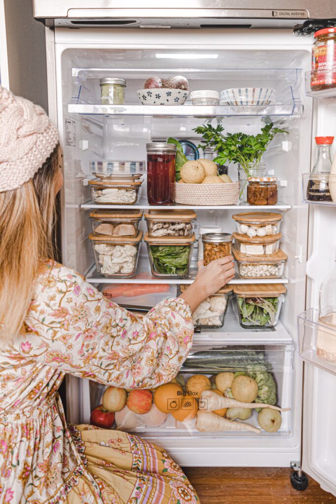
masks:
[[[331,144],[334,137],[315,137],[317,156],[310,172],[307,200],[331,201],[329,192],[329,174],[331,169]]]

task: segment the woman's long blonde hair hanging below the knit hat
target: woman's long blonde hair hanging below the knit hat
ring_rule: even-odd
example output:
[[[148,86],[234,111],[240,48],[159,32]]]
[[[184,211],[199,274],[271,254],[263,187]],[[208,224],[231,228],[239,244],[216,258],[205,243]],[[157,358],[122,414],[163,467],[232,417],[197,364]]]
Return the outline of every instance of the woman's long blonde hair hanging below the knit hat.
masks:
[[[0,342],[24,330],[33,282],[54,257],[58,166],[59,145],[33,179],[0,193]]]

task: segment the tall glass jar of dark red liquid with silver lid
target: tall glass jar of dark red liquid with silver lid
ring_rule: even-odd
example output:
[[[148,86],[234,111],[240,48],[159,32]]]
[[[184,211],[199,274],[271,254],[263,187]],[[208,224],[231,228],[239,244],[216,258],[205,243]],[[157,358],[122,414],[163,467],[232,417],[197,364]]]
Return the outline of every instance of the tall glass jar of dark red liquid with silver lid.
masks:
[[[147,197],[150,205],[172,205],[176,145],[152,142],[147,149]]]

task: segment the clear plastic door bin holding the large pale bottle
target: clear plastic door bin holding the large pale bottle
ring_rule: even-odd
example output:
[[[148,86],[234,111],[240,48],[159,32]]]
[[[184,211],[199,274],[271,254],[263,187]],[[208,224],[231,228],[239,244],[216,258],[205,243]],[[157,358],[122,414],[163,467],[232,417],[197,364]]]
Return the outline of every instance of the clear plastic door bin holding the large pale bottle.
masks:
[[[336,374],[336,327],[321,323],[318,310],[310,308],[298,316],[298,334],[302,359]]]

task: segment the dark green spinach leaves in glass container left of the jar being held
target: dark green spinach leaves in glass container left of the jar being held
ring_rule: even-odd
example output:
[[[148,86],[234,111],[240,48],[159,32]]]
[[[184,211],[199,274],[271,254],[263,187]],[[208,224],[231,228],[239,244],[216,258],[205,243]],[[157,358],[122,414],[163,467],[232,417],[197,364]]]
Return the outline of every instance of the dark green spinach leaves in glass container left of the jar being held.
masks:
[[[150,245],[154,268],[158,273],[185,275],[188,271],[190,246]]]

